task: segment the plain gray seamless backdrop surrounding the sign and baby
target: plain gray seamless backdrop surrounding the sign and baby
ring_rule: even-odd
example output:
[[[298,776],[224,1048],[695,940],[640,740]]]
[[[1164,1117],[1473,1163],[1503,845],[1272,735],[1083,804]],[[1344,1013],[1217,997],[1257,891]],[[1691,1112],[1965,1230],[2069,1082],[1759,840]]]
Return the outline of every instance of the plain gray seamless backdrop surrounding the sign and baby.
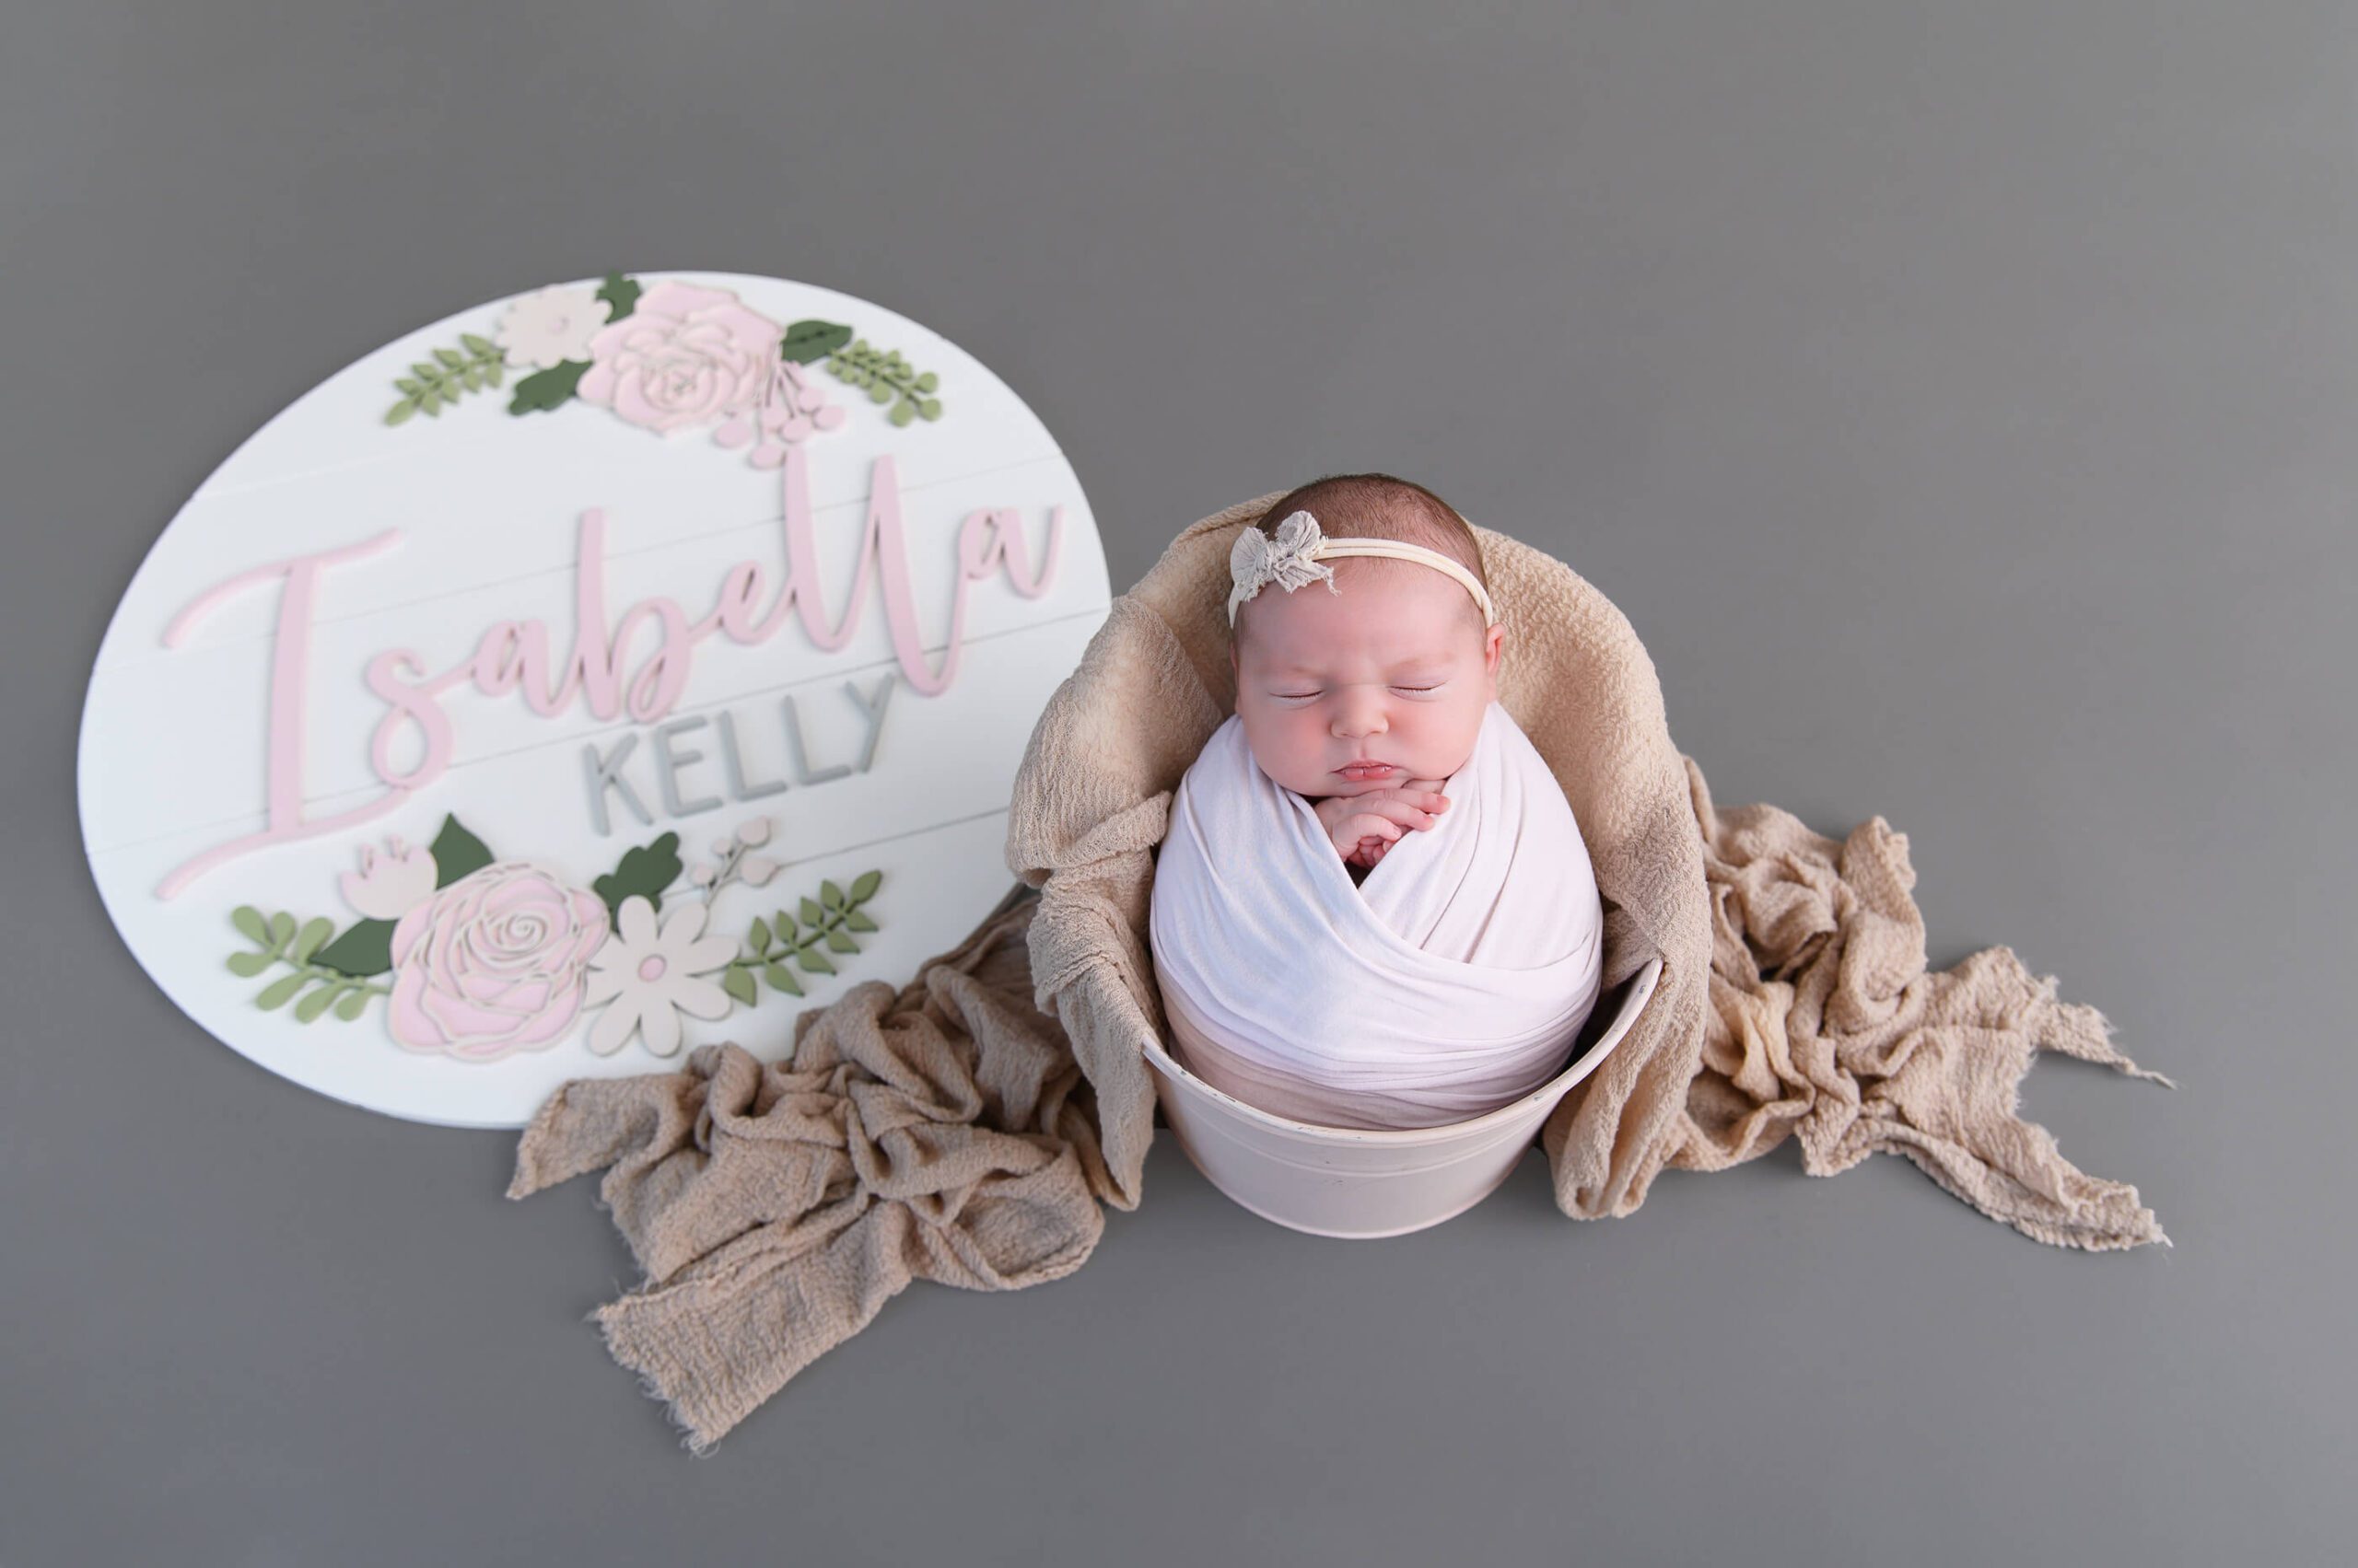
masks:
[[[2346,1561],[2353,73],[2337,5],[9,7],[0,1563]],[[1165,1134],[1080,1273],[917,1285],[689,1460],[592,1184],[212,1042],[73,811],[248,431],[672,266],[971,349],[1115,587],[1353,467],[1563,556],[1721,802],[1884,813],[1936,964],[2181,1080],[2026,1094],[2176,1247],[1790,1148],[1330,1243]]]

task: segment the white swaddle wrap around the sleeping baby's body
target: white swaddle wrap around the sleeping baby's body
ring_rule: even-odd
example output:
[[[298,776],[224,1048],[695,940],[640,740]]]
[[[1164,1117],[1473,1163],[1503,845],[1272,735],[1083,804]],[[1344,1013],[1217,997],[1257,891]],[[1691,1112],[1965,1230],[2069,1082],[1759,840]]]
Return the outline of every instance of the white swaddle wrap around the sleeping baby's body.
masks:
[[[1365,882],[1231,714],[1172,797],[1148,941],[1174,1056],[1320,1127],[1438,1127],[1554,1078],[1603,971],[1570,802],[1504,707]]]

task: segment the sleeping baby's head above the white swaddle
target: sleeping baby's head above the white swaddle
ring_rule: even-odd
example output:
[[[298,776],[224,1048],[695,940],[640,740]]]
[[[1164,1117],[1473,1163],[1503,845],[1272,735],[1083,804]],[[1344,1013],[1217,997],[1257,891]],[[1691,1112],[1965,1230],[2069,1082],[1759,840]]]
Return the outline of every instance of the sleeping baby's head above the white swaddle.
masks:
[[[1330,474],[1285,495],[1254,528],[1276,540],[1295,512],[1309,512],[1328,540],[1434,549],[1488,592],[1474,528],[1424,486]],[[1240,547],[1250,554],[1243,538]],[[1502,639],[1504,627],[1488,625],[1474,594],[1438,566],[1391,556],[1295,564],[1236,606],[1229,660],[1245,745],[1269,778],[1313,799],[1448,778],[1474,755],[1497,698]],[[1391,769],[1344,773],[1356,759]]]

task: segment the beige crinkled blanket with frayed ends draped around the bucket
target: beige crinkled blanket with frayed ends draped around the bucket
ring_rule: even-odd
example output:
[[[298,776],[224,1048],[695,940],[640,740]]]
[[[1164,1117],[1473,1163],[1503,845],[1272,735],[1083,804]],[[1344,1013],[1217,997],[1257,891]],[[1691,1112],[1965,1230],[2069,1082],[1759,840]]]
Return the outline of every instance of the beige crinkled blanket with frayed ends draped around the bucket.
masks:
[[[512,1198],[592,1170],[646,1283],[599,1309],[613,1356],[707,1448],[913,1278],[1012,1290],[1137,1207],[1167,1021],[1148,889],[1172,792],[1233,705],[1229,545],[1280,493],[1186,528],[1113,601],[1016,776],[1021,887],[898,993],[854,986],[790,1061],[700,1047],[686,1070],[580,1080],[523,1132]],[[2009,948],[1924,964],[1908,839],[1717,809],[1669,738],[1653,660],[1561,561],[1476,528],[1507,622],[1500,703],[1554,769],[1603,898],[1603,990],[1646,960],[1632,1033],[1549,1115],[1556,1207],[1629,1214],[1665,1167],[1799,1139],[1832,1174],[1877,1151],[2044,1243],[2167,1240],[2134,1186],[2016,1115],[2035,1052],[2136,1078],[2092,1007]],[[1240,1217],[1240,1224],[1247,1224]]]

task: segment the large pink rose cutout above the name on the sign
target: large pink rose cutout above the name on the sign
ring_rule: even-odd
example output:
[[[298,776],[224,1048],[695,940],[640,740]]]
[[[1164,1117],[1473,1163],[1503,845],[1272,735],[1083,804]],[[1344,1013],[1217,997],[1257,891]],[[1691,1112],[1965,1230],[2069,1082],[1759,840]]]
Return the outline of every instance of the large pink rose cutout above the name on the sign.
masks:
[[[726,288],[665,281],[597,330],[578,396],[656,431],[707,424],[762,398],[783,337]]]

